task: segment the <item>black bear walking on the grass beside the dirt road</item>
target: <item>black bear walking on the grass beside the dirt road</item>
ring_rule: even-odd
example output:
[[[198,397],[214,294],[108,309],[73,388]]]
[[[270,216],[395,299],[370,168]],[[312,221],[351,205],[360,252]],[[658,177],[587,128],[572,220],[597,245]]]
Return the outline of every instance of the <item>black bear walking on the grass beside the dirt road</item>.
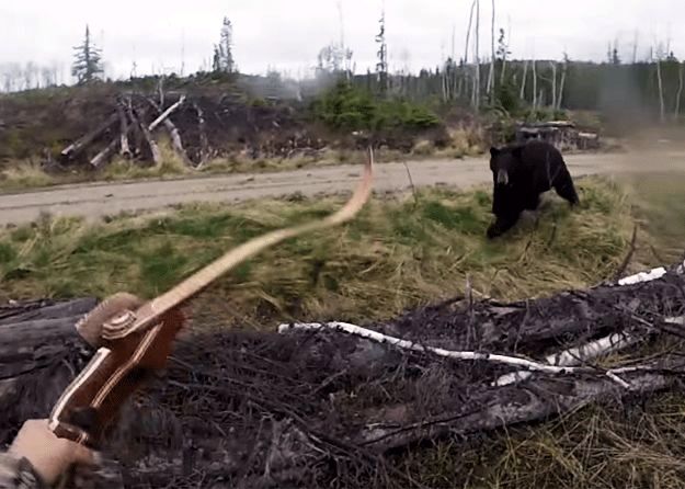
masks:
[[[571,205],[580,201],[561,152],[549,143],[530,140],[523,145],[490,148],[495,221],[488,228],[488,238],[510,230],[523,211],[535,211],[540,194],[551,189]]]

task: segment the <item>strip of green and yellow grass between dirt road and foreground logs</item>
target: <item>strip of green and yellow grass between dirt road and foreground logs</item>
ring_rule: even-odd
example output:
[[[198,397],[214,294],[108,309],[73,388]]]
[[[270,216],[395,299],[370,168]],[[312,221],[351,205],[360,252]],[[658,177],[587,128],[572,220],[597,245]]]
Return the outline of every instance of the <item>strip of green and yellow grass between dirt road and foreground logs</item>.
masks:
[[[286,242],[239,266],[208,294],[240,318],[297,315],[380,319],[464,293],[532,297],[610,276],[632,230],[626,194],[605,180],[581,185],[583,204],[553,197],[506,239],[488,242],[491,197],[426,191],[374,200],[350,225]],[[95,227],[45,217],[0,238],[2,293],[14,298],[126,289],[151,297],[226,250],[271,229],[323,216],[340,198],[196,205]]]

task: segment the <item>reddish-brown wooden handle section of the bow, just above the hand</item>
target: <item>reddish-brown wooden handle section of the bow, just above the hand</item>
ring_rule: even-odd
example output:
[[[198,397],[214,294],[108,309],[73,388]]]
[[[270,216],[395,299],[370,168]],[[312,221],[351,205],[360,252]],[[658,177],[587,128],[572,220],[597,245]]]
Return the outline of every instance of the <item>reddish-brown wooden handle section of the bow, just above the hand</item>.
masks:
[[[105,339],[55,405],[50,430],[58,437],[99,450],[105,430],[126,400],[152,371],[165,366],[183,322],[182,312],[174,308],[145,330]]]

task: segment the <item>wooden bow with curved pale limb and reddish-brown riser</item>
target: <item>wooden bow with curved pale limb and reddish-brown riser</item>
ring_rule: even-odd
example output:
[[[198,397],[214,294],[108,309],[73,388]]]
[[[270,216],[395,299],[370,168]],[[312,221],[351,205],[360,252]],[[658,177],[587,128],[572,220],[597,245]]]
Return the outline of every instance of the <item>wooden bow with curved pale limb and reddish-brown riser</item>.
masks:
[[[77,329],[99,350],[55,405],[49,424],[53,432],[96,447],[126,399],[151,372],[164,367],[173,340],[184,325],[180,306],[260,251],[352,219],[370,196],[373,163],[369,148],[361,184],[346,205],[327,218],[254,238],[139,307],[135,296],[118,294],[94,309]]]

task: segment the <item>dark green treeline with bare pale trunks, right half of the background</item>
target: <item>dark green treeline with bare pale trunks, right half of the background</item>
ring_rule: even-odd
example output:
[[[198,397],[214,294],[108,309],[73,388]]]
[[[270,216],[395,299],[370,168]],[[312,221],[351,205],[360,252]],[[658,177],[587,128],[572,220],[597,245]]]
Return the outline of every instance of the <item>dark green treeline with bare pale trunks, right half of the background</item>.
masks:
[[[636,64],[556,60],[498,60],[491,88],[491,64],[476,68],[446,62],[419,75],[395,73],[388,78],[387,94],[414,102],[457,104],[479,110],[585,110],[633,113],[662,121],[678,120],[683,98],[685,64],[671,56],[665,60]],[[352,83],[370,93],[381,93],[377,73],[352,77]],[[475,96],[478,103],[475,104]]]

